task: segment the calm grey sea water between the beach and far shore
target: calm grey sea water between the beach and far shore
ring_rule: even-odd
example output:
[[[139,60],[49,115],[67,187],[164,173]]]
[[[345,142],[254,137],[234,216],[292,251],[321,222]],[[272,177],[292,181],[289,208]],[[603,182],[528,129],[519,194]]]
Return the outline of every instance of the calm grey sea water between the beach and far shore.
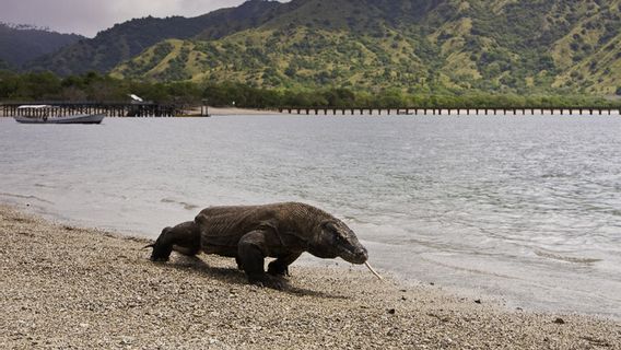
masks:
[[[304,201],[406,279],[618,318],[620,130],[619,116],[0,118],[0,201],[152,237],[208,206]]]

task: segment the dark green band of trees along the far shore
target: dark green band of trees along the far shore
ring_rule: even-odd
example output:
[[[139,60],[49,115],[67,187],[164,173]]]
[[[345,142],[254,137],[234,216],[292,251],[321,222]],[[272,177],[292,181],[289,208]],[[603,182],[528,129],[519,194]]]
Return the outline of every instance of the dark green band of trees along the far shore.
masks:
[[[319,90],[258,89],[241,83],[119,80],[89,72],[60,78],[50,72],[0,71],[0,102],[126,102],[129,94],[161,104],[232,106],[245,108],[520,108],[614,107],[621,101],[588,95],[517,95],[484,92],[410,93],[399,89],[358,91],[344,88]]]

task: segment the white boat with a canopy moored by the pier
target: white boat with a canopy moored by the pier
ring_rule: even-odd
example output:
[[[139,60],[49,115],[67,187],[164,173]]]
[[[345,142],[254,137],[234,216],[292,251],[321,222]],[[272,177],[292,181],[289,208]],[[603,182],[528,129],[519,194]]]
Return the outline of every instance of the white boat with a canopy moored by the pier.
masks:
[[[106,116],[103,113],[63,115],[59,107],[49,105],[24,105],[17,110],[13,118],[23,124],[101,124]]]

